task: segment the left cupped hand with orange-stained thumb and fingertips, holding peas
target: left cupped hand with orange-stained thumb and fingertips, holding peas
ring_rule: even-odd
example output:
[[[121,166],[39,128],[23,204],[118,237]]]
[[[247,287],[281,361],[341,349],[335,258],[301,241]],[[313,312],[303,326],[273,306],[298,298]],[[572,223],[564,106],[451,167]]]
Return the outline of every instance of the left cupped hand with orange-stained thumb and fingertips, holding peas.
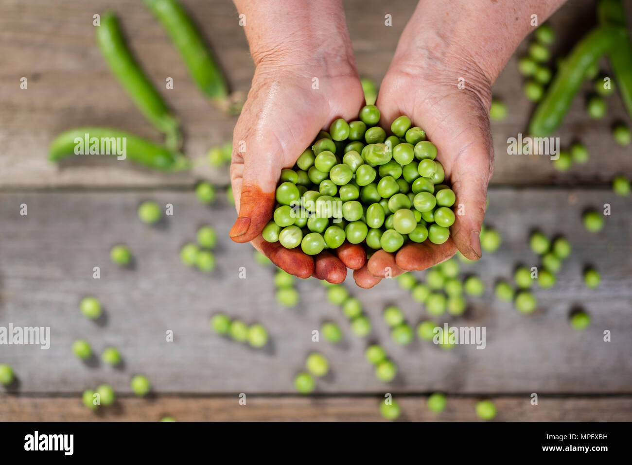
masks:
[[[336,118],[355,119],[364,95],[354,63],[258,64],[233,136],[231,183],[238,218],[230,231],[289,274],[342,282],[347,267],[366,262],[362,246],[345,244],[312,257],[261,235],[272,217],[281,169],[294,166],[320,130]]]

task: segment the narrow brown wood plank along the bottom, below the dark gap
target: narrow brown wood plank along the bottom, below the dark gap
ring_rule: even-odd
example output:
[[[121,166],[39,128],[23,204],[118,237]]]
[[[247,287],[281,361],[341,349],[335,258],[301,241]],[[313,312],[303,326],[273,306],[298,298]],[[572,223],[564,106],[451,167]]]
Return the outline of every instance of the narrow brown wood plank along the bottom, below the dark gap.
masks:
[[[234,397],[121,398],[92,413],[79,394],[74,397],[0,396],[3,421],[158,421],[172,416],[178,421],[380,421],[380,397],[257,397],[246,396],[246,405]],[[477,421],[478,397],[448,396],[446,409],[436,414],[426,408],[426,396],[394,397],[401,407],[401,421]],[[629,421],[631,397],[492,397],[497,421]]]

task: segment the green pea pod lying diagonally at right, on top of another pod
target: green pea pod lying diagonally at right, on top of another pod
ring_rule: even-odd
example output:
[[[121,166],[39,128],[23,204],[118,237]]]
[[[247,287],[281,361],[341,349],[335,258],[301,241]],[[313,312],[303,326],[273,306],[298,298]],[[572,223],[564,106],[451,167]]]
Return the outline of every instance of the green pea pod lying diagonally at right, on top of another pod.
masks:
[[[586,80],[586,71],[611,51],[624,35],[621,28],[602,26],[593,29],[575,45],[533,113],[529,123],[531,136],[547,136],[556,130]]]

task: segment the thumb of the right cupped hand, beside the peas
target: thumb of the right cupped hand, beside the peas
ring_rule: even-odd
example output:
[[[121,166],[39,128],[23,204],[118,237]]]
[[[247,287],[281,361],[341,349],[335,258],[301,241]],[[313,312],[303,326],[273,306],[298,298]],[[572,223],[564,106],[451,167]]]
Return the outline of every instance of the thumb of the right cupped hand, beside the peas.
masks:
[[[487,184],[494,170],[494,155],[485,142],[468,145],[454,160],[452,185],[456,194],[456,219],[452,236],[469,260],[481,255],[480,231],[487,207]]]

